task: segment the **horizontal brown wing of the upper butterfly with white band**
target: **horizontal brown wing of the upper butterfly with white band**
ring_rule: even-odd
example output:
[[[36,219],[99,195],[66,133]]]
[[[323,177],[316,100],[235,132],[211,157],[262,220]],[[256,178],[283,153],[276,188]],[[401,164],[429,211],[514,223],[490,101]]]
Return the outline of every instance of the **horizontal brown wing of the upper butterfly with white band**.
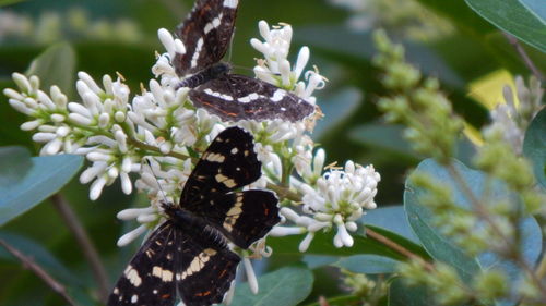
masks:
[[[205,108],[223,121],[274,120],[296,122],[314,107],[298,96],[258,78],[226,74],[189,93],[195,107]]]

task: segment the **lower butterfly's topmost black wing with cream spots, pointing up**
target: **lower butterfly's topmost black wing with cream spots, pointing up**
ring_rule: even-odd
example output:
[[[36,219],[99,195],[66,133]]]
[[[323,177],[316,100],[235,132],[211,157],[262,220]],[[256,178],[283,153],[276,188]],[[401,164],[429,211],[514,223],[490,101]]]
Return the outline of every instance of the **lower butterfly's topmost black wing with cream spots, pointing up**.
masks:
[[[229,127],[214,138],[186,182],[180,206],[199,216],[203,203],[248,185],[261,176],[252,135]],[[206,212],[206,210],[204,210]]]

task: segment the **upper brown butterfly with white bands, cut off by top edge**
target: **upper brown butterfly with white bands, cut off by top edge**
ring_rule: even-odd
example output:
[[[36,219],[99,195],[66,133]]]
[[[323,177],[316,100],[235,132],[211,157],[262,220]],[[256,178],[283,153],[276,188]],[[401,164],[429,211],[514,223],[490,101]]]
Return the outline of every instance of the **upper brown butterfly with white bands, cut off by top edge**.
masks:
[[[232,39],[238,0],[198,0],[176,34],[186,53],[173,60],[179,87],[192,88],[190,100],[223,121],[274,120],[296,122],[314,111],[298,96],[263,81],[229,73],[219,61]]]

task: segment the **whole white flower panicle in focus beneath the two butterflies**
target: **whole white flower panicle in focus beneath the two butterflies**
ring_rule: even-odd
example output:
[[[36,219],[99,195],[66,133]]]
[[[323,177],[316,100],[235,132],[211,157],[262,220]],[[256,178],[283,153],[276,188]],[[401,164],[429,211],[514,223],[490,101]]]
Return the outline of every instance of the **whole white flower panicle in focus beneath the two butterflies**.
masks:
[[[292,65],[287,59],[292,27],[282,25],[270,28],[262,21],[259,28],[263,40],[251,40],[264,58],[254,68],[257,77],[314,105],[312,94],[324,86],[325,79],[317,70],[304,72],[309,49],[301,48],[296,64]],[[209,114],[204,109],[194,109],[188,100],[188,88],[175,90],[180,78],[170,60],[176,53],[183,53],[186,48],[166,29],[161,29],[158,37],[166,49],[152,68],[158,81],[151,79],[149,89],[143,88],[133,98],[121,76],[114,81],[106,75],[99,86],[84,72],[78,74],[76,83],[81,102],[69,102],[56,86],[51,87],[49,95],[41,91],[36,76],[27,78],[14,74],[19,91],[4,90],[10,103],[32,118],[22,128],[36,131],[34,140],[45,144],[41,155],[67,152],[86,156],[91,166],[80,181],[92,183],[92,199],[98,198],[103,188],[118,178],[126,194],[131,193],[134,186],[147,193],[150,207],[126,209],[118,213],[119,219],[136,220],[141,224],[120,237],[120,246],[161,221],[159,201],[177,203],[181,186],[191,173],[194,160],[189,158],[190,151],[202,152],[226,127],[226,123],[216,115]],[[301,75],[306,82],[299,79]],[[352,246],[353,238],[348,232],[356,230],[355,221],[365,213],[365,209],[376,207],[373,196],[380,180],[372,167],[364,168],[352,161],[344,169],[331,168],[322,173],[325,154],[319,149],[313,156],[314,144],[306,134],[310,131],[308,123],[314,120],[316,117],[294,123],[280,120],[235,123],[254,135],[254,149],[263,164],[263,176],[250,187],[277,186],[297,196],[283,201],[286,205],[281,210],[284,223],[274,228],[272,234],[307,233],[300,245],[302,252],[309,247],[316,232],[334,228],[334,245]],[[293,175],[293,169],[299,179]],[[130,180],[131,172],[140,174],[134,183]],[[299,210],[287,207],[290,204],[298,207],[300,200],[304,205]],[[294,224],[288,224],[288,221]],[[259,256],[271,254],[263,241],[251,249]],[[245,261],[245,266],[249,265]]]

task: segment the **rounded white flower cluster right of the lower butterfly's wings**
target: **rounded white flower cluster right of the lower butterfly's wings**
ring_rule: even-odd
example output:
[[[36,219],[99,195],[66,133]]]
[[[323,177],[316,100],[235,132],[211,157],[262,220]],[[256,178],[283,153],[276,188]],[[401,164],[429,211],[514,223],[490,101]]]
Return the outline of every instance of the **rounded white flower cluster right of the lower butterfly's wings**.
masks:
[[[333,227],[336,228],[334,246],[353,246],[354,240],[348,232],[357,230],[355,221],[363,217],[365,209],[375,209],[377,206],[373,197],[381,176],[372,166],[361,167],[347,161],[343,170],[332,168],[320,175],[323,163],[324,151],[319,149],[312,163],[298,169],[306,181],[295,184],[304,194],[302,213],[283,207],[281,215],[296,227],[278,225],[271,232],[273,236],[307,233],[299,244],[300,252],[309,248],[318,231]]]

